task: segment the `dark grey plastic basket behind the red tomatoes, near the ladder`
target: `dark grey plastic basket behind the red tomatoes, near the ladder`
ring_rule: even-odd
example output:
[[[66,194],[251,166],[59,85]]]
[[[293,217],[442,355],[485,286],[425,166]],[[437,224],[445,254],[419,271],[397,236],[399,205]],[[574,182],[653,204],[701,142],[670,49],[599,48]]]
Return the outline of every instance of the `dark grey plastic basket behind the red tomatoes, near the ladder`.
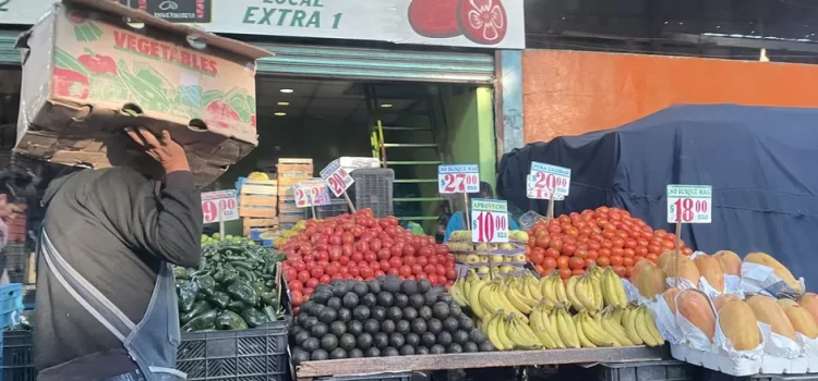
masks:
[[[354,179],[354,197],[357,209],[371,208],[377,218],[394,216],[393,183],[395,171],[388,168],[361,169],[350,173]]]

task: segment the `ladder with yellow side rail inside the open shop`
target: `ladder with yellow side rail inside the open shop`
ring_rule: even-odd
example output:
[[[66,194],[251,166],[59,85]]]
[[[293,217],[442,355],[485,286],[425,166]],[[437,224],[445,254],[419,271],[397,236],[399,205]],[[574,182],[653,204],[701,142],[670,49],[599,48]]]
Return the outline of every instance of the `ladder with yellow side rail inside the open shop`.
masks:
[[[372,156],[381,161],[381,167],[395,171],[395,217],[429,230],[445,200],[436,185],[443,150],[435,135],[446,132],[440,91],[430,94],[426,85],[416,84],[368,84],[364,91],[372,124]],[[383,107],[393,103],[408,106]]]

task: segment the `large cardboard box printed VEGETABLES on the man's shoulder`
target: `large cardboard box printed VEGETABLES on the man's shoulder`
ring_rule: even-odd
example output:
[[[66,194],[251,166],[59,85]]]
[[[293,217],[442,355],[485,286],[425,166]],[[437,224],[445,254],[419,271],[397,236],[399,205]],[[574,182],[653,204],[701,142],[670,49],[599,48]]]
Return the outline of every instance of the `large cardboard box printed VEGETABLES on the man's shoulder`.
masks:
[[[166,130],[205,185],[258,145],[255,60],[266,50],[98,0],[53,4],[17,47],[21,153],[105,168],[133,159],[108,155],[123,151],[124,127]]]

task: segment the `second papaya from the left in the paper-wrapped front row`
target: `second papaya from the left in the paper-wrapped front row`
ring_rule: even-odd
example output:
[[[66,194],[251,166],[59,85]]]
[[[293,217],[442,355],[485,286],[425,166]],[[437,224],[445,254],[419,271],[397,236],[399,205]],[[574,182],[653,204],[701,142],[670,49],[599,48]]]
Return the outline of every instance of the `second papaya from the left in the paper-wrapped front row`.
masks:
[[[761,344],[761,332],[753,308],[742,299],[724,304],[719,312],[719,327],[736,351],[749,351]]]

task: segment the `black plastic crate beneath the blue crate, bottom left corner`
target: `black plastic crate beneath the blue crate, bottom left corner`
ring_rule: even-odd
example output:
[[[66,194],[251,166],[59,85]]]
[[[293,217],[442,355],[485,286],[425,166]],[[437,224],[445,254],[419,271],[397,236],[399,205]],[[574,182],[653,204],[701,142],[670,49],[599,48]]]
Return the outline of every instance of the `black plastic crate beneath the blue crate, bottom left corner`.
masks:
[[[31,331],[2,331],[2,381],[34,381],[34,341]]]

